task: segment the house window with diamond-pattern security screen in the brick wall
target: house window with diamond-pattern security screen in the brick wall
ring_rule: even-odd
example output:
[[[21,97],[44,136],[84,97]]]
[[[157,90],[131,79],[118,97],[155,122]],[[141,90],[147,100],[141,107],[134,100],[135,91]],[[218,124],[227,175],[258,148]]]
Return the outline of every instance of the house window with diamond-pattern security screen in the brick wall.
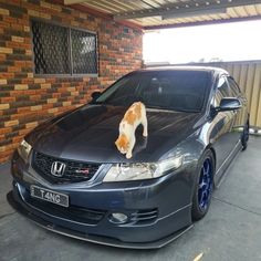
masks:
[[[35,74],[97,74],[96,33],[32,21]]]

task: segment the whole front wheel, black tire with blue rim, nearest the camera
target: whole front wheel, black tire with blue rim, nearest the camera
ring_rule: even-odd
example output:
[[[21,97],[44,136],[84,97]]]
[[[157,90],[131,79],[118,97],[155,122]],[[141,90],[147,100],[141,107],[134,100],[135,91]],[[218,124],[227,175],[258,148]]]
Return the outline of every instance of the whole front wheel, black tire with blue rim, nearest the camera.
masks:
[[[194,221],[202,219],[208,212],[213,190],[213,176],[215,158],[212,152],[208,149],[199,160],[197,168],[191,209]]]

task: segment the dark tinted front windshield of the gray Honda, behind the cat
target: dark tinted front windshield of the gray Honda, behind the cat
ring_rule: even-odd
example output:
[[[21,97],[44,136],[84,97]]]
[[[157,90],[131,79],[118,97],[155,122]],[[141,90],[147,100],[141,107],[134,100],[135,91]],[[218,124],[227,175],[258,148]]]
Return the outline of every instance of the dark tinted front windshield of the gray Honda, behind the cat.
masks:
[[[150,108],[200,112],[209,79],[205,71],[134,72],[113,84],[94,103],[129,106],[140,101]]]

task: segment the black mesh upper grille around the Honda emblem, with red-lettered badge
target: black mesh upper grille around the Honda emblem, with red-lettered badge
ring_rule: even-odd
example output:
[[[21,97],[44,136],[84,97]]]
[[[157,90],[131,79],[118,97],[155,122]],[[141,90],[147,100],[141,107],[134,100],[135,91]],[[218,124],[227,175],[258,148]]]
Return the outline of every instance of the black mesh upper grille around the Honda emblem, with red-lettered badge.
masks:
[[[65,169],[61,177],[51,174],[52,164],[55,161],[65,164]],[[33,152],[32,158],[33,169],[52,184],[87,181],[96,174],[100,166],[100,164],[56,158],[38,152]]]

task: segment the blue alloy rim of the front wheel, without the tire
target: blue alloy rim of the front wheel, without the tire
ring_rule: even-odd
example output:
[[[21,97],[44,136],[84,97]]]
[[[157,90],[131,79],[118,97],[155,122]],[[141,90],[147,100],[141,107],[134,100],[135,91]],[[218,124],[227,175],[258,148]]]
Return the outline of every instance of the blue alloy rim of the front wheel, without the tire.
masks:
[[[210,202],[210,197],[213,187],[212,177],[213,169],[211,159],[206,158],[200,170],[198,184],[198,207],[201,211],[206,211]]]

